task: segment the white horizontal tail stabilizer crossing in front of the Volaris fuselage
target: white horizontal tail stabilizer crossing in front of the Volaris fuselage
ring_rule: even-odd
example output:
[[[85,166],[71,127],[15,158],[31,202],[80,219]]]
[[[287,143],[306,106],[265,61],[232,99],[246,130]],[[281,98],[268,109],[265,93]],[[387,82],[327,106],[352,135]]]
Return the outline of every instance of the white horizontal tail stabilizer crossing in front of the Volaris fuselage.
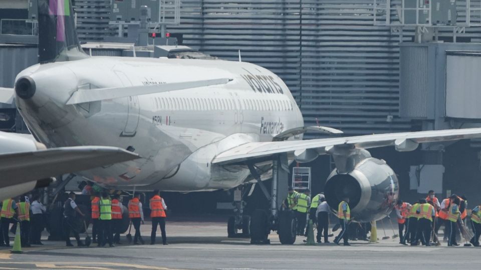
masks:
[[[79,89],[75,91],[69,100],[67,105],[77,104],[83,102],[91,102],[97,100],[114,99],[120,97],[127,97],[131,95],[142,95],[150,93],[167,92],[173,90],[182,90],[195,87],[225,84],[229,82],[229,78],[218,79],[206,79],[206,80],[194,80],[184,82],[171,82],[164,84],[152,84],[152,85],[136,85],[119,88],[99,88],[99,89]]]

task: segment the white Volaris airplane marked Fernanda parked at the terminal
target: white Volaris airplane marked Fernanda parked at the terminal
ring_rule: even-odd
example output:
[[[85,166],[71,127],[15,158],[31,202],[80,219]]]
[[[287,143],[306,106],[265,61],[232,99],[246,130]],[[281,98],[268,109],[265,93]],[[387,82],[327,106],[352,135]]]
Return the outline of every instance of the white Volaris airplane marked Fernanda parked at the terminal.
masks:
[[[252,242],[277,230],[295,241],[295,218],[280,211],[286,168],[321,154],[334,157],[325,196],[335,207],[350,198],[351,216],[385,217],[399,194],[396,174],[372,147],[412,151],[419,143],[481,137],[481,128],[303,140],[329,127],[304,126],[283,80],[261,66],[202,59],[92,57],[83,52],[70,1],[39,0],[39,64],[21,71],[2,102],[15,100],[27,126],[49,147],[105,145],[142,158],[77,174],[123,190],[200,191],[255,182],[271,199],[243,225]],[[271,194],[262,180],[272,178]]]

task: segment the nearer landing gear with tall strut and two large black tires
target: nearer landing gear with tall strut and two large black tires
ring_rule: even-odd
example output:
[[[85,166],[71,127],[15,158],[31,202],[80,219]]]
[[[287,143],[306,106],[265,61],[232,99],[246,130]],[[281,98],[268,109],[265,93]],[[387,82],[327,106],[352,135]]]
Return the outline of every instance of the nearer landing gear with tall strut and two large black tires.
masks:
[[[272,160],[272,188],[271,194],[261,181],[261,176],[255,166],[249,164],[251,174],[257,179],[264,194],[271,201],[270,211],[257,209],[251,219],[251,243],[268,244],[271,230],[277,230],[279,239],[283,244],[292,244],[296,241],[297,219],[291,210],[284,210],[283,200],[288,193],[289,164],[286,154],[273,155]]]

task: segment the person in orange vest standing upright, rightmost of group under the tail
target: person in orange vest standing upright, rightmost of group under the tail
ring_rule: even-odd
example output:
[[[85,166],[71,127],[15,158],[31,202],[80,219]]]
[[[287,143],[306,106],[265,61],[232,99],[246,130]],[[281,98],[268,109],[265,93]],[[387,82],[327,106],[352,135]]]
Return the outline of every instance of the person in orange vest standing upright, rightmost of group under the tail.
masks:
[[[160,197],[160,191],[155,190],[155,195],[150,199],[150,217],[152,219],[152,232],[150,233],[150,244],[155,244],[155,236],[157,233],[157,224],[160,226],[160,233],[162,234],[162,244],[167,243],[167,235],[165,233],[165,217],[167,217],[165,211],[167,205],[165,201]]]

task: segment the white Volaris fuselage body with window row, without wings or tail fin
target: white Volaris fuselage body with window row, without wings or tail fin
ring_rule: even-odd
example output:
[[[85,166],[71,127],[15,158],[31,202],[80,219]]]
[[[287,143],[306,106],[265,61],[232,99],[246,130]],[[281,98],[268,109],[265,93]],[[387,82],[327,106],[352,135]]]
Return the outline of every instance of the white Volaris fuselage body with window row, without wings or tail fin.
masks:
[[[212,165],[219,152],[272,141],[303,126],[286,84],[247,62],[141,57],[91,57],[37,64],[36,92],[17,98],[31,131],[49,147],[109,145],[143,158],[79,172],[119,189],[196,191],[242,184],[249,169]],[[78,89],[231,78],[226,84],[66,105]],[[294,139],[301,139],[302,136]]]

